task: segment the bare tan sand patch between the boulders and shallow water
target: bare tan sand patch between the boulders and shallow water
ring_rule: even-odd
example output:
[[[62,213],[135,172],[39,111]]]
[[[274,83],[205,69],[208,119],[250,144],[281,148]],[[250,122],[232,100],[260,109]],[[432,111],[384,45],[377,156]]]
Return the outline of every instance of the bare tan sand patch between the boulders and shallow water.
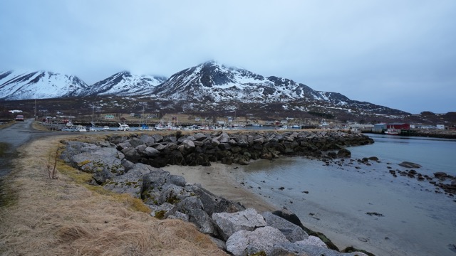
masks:
[[[162,169],[183,176],[187,183],[199,183],[215,195],[239,202],[246,208],[254,208],[259,212],[278,210],[278,207],[264,201],[237,181],[236,174],[241,168],[237,164],[212,163],[211,166],[166,166]]]

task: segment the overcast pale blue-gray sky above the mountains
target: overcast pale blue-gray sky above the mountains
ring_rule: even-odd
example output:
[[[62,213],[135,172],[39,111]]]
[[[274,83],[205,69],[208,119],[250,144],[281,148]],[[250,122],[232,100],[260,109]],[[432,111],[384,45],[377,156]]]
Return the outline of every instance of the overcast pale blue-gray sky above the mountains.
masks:
[[[1,0],[0,70],[89,85],[217,60],[413,114],[456,111],[455,0]]]

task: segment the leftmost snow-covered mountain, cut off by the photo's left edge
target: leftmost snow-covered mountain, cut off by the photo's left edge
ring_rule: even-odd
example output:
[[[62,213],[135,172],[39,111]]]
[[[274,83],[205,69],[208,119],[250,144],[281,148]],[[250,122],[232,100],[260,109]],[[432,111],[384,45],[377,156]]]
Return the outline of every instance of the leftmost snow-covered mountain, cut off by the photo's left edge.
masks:
[[[47,71],[0,72],[0,99],[26,100],[65,97],[70,92],[88,85],[74,75]]]

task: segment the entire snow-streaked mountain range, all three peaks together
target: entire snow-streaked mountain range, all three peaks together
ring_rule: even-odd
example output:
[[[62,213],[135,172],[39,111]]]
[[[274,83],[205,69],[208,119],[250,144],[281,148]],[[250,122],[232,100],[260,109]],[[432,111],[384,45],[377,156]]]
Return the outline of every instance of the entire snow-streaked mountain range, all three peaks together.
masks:
[[[13,73],[15,75],[11,76]],[[45,89],[52,91],[48,92]],[[189,110],[195,106],[201,109],[208,106],[214,109],[230,109],[233,108],[233,104],[227,102],[242,102],[257,105],[260,108],[274,105],[283,110],[333,114],[340,112],[356,112],[358,115],[363,113],[410,114],[370,102],[350,100],[338,92],[317,91],[287,78],[265,77],[244,68],[229,67],[214,60],[180,70],[170,78],[133,75],[128,71],[121,71],[93,85],[87,85],[73,75],[46,71],[0,72],[0,100],[94,95],[187,101],[191,103],[188,105]]]

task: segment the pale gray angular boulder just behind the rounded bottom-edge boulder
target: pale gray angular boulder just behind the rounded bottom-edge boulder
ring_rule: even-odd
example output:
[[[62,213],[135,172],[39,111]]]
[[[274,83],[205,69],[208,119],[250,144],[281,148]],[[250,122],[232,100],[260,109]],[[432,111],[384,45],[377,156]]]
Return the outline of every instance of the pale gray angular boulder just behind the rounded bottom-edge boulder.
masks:
[[[253,231],[255,228],[266,226],[263,216],[253,208],[237,213],[213,213],[212,219],[219,226],[220,235],[225,240],[239,230]]]

